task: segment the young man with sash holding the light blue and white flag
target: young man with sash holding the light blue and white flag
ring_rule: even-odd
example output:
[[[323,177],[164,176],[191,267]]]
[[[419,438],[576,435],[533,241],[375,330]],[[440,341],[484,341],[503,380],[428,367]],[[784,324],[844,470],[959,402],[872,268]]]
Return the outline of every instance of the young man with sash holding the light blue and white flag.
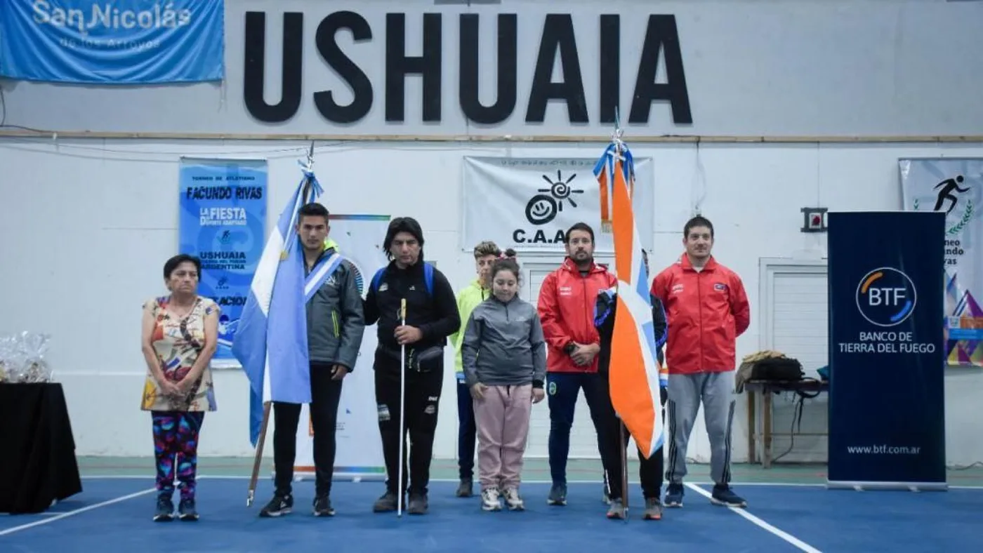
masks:
[[[355,269],[340,257],[334,241],[327,239],[330,230],[327,209],[319,203],[301,207],[296,230],[303,250],[306,277],[305,316],[316,472],[314,514],[323,517],[334,515],[330,492],[341,384],[345,375],[355,368],[365,320]],[[273,302],[276,301],[274,295]],[[285,515],[291,512],[294,504],[291,480],[301,404],[273,401],[273,415],[275,490],[273,498],[260,510],[260,517]]]

